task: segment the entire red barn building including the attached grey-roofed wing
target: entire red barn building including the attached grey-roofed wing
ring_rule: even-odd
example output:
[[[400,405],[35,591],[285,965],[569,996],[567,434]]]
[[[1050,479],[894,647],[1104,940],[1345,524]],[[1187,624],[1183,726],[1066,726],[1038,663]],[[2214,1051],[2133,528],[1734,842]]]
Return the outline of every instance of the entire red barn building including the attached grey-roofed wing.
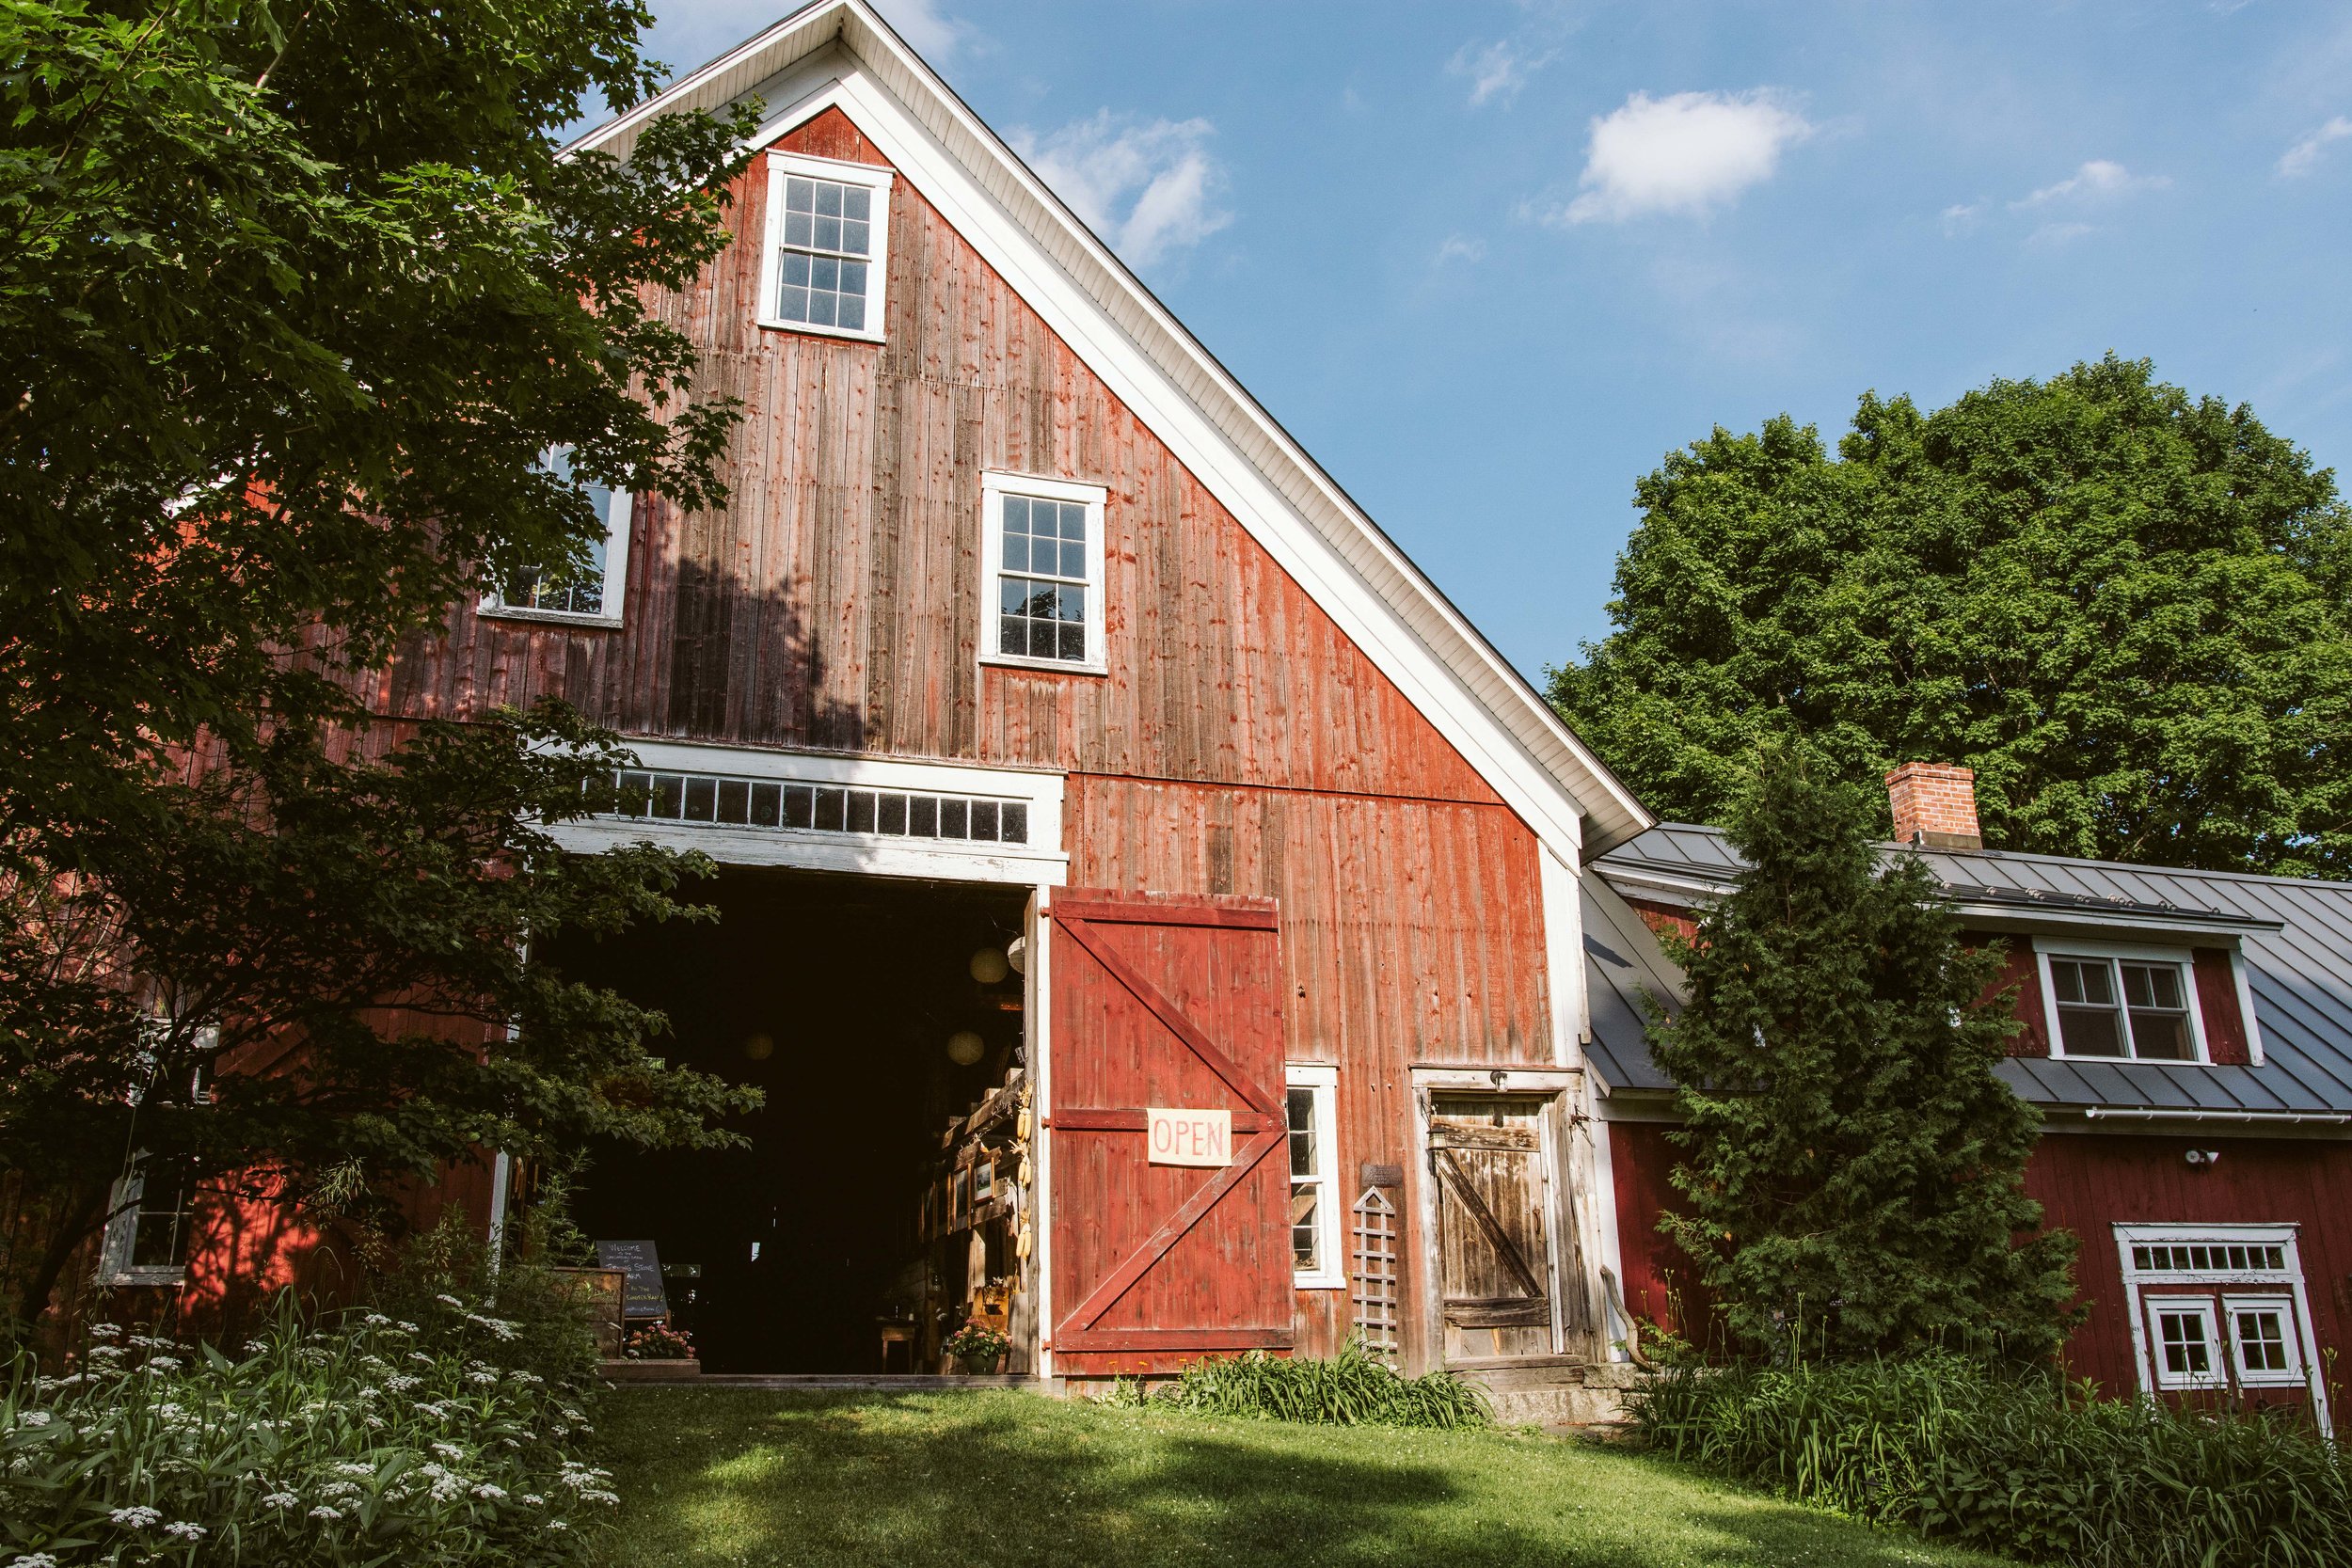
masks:
[[[642,759],[569,842],[720,865],[717,926],[550,957],[767,1107],[739,1150],[597,1150],[579,1220],[654,1244],[710,1371],[929,1371],[978,1316],[1018,1373],[1362,1335],[1576,1410],[1613,1284],[1677,1309],[1642,912],[1717,891],[1722,842],[1656,827],[863,0],[581,146],[746,94],[734,244],[656,301],[748,409],[731,503],[607,494],[595,576],[461,607],[372,691],[567,698]],[[2084,1366],[2305,1387],[2352,1269],[2347,889],[1929,844],[2030,938],[2013,1081],[2089,1241]],[[503,1178],[449,1190],[494,1222]],[[181,1208],[134,1204],[106,1276],[186,1286]]]

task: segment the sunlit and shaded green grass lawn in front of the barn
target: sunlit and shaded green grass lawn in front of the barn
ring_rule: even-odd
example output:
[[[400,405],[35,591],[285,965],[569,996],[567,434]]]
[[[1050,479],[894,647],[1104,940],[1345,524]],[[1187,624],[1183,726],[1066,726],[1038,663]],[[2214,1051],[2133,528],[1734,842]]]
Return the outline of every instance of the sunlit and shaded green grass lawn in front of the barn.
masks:
[[[623,1389],[612,1568],[1990,1563],[1635,1453],[1016,1392]]]

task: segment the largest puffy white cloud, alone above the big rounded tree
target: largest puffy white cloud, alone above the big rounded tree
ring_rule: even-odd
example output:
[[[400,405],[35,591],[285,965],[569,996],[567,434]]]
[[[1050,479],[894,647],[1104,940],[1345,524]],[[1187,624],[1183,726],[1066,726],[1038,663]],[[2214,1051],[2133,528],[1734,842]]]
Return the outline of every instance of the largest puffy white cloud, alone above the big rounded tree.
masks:
[[[1583,193],[1550,223],[1623,223],[1651,212],[1703,214],[1762,183],[1780,153],[1813,134],[1778,94],[1637,92],[1592,120]]]

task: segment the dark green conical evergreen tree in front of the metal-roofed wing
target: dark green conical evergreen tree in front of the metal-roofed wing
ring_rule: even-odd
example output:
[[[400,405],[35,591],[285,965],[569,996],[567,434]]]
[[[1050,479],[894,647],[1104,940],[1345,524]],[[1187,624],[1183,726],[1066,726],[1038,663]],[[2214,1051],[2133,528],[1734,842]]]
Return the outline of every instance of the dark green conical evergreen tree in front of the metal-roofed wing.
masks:
[[[1994,1077],[2013,994],[1929,870],[1882,863],[1858,790],[1766,745],[1731,811],[1748,870],[1677,954],[1653,1023],[1684,1126],[1668,1234],[1733,1347],[1870,1356],[1940,1342],[2046,1359],[2074,1239],[2034,1232],[2039,1117]]]

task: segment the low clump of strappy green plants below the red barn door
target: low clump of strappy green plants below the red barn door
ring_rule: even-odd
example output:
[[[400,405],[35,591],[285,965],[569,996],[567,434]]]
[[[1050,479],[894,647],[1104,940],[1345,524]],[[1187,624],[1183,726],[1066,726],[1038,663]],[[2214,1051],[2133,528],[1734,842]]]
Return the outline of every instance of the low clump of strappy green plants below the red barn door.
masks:
[[[1268,1356],[1263,1349],[1195,1361],[1150,1394],[1141,1385],[1124,1385],[1117,1399],[1195,1415],[1251,1415],[1322,1427],[1494,1425],[1494,1410],[1477,1385],[1446,1371],[1404,1378],[1357,1342],[1329,1361]]]

